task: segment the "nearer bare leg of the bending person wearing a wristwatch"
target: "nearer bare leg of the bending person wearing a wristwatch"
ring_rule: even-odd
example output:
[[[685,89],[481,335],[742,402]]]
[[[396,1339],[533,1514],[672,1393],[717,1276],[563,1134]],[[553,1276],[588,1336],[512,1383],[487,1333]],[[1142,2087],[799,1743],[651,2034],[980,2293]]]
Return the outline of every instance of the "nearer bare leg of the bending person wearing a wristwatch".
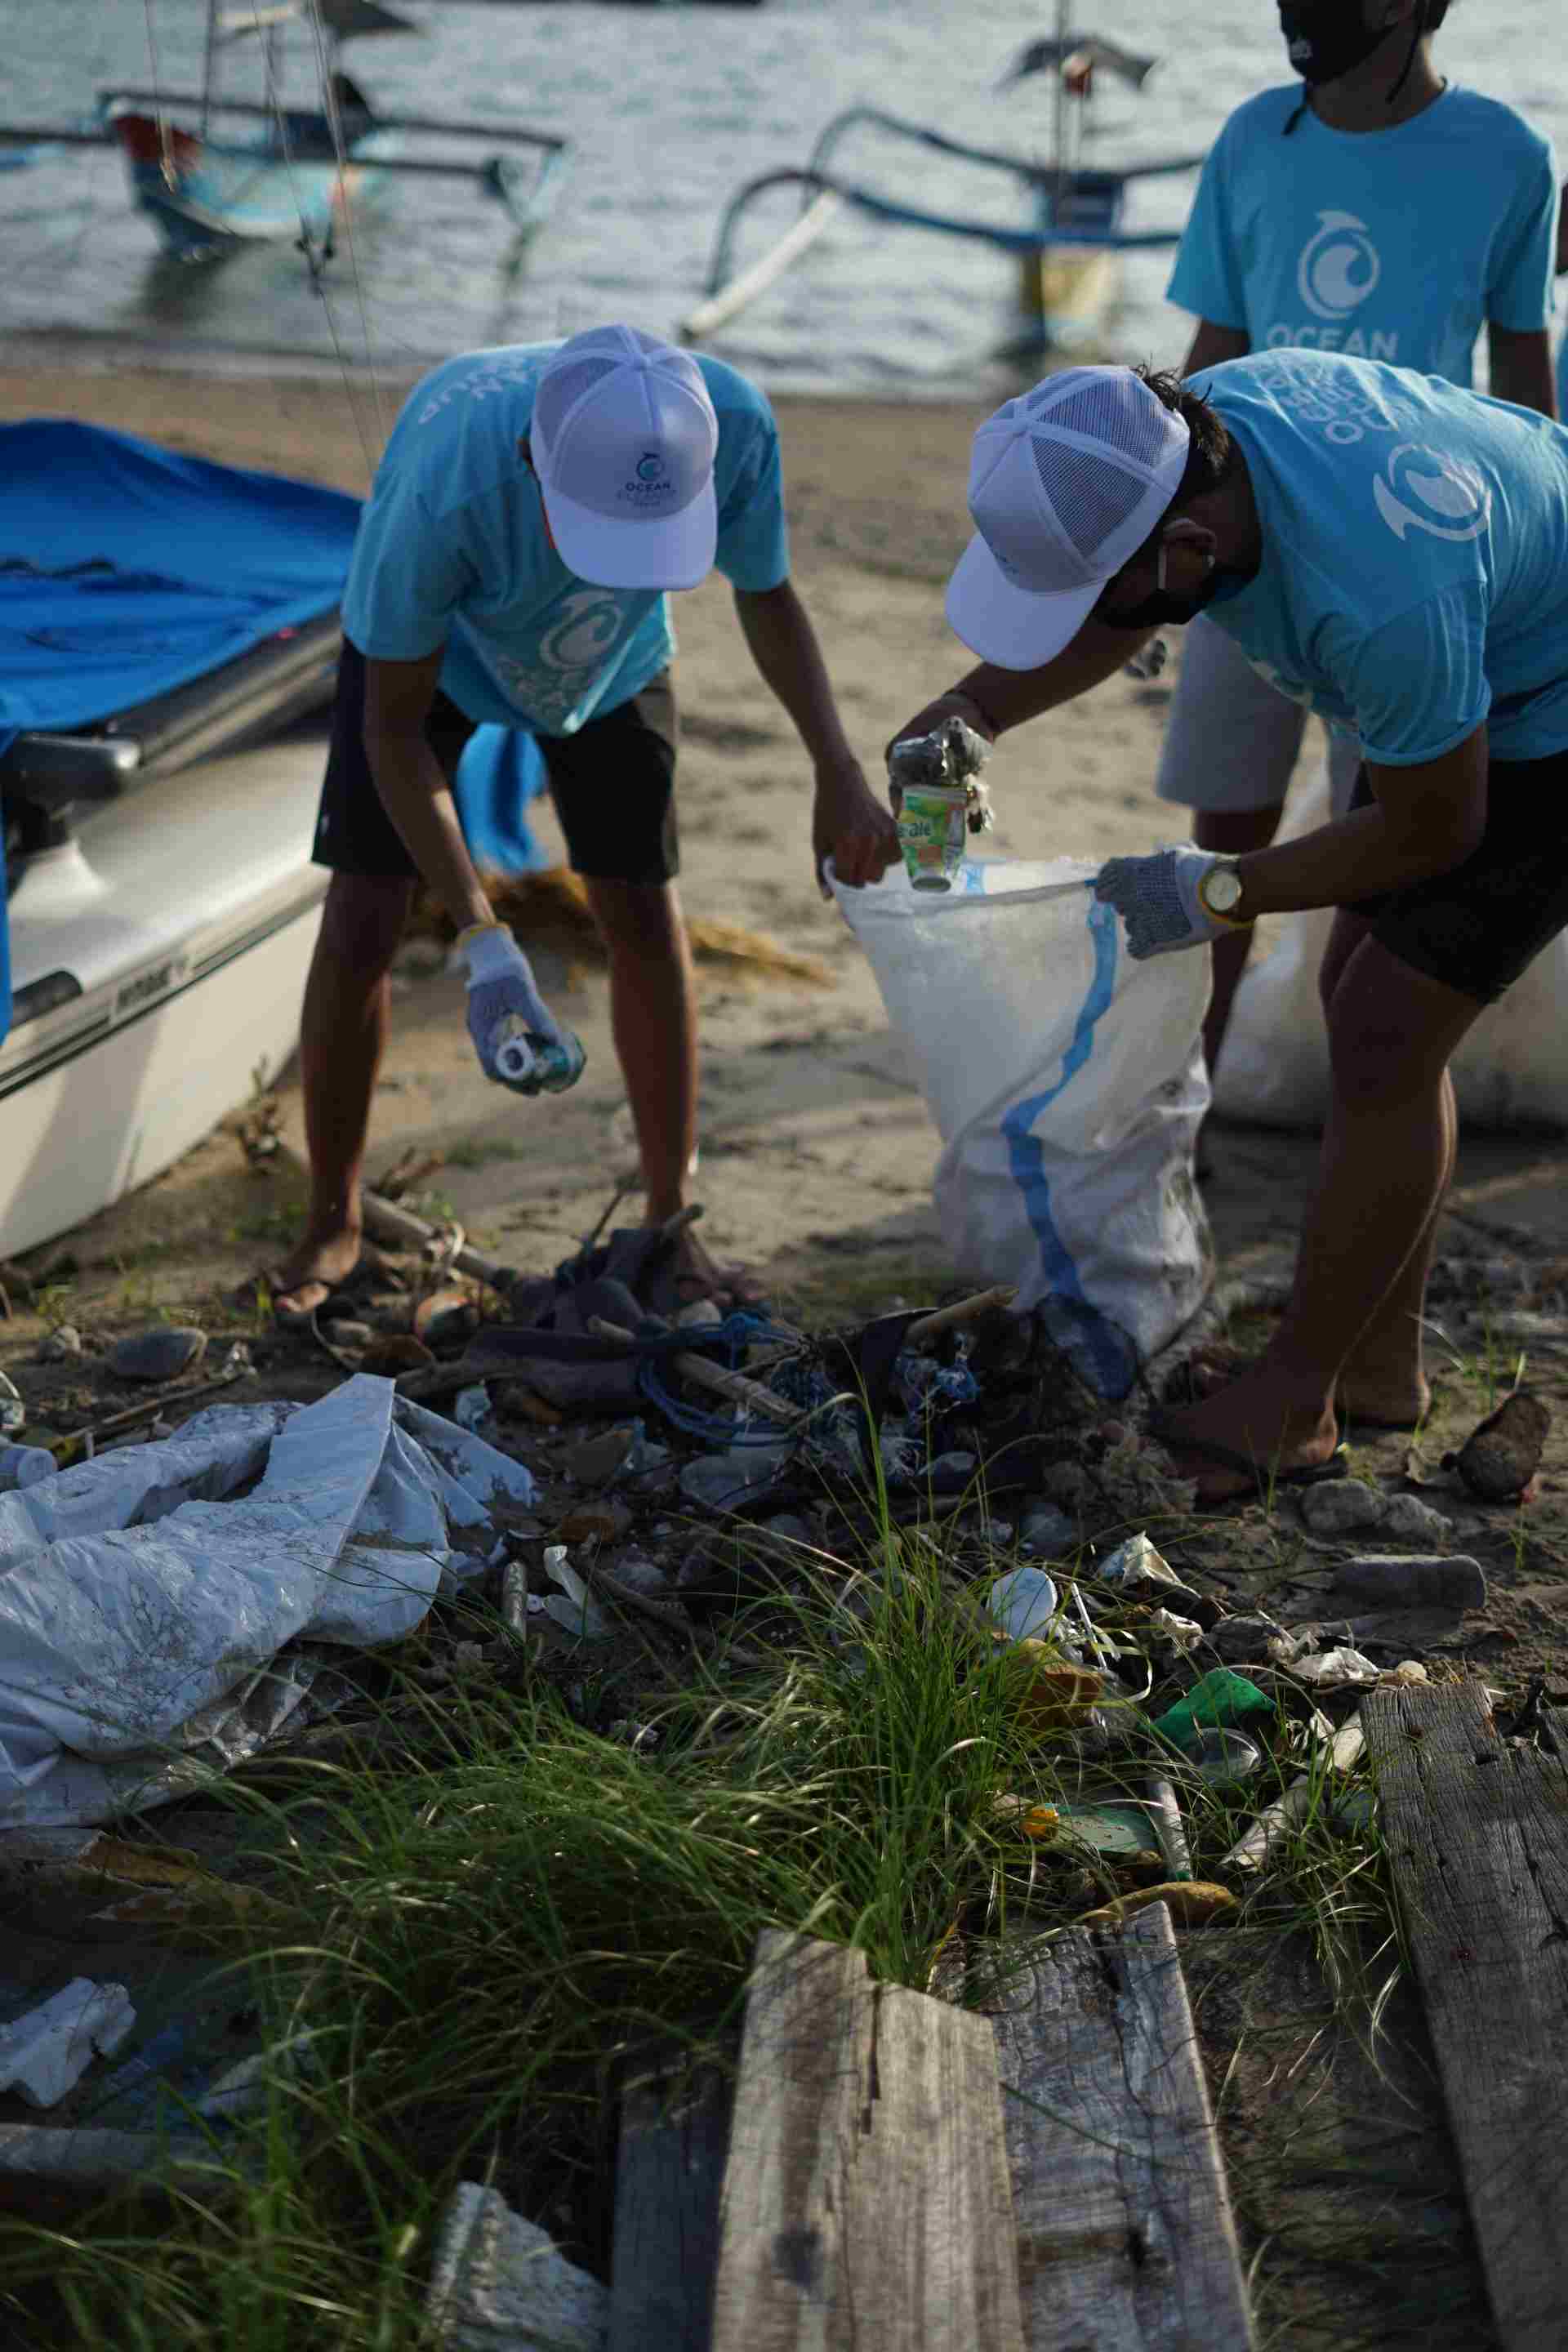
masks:
[[[1333,1101],[1291,1305],[1260,1362],[1215,1397],[1171,1414],[1173,1430],[1246,1454],[1262,1477],[1269,1465],[1333,1454],[1333,1397],[1366,1329],[1366,1301],[1389,1298],[1448,1183],[1448,1058],[1479,1014],[1474,997],[1413,971],[1373,938],[1354,948],[1333,990]],[[1246,1479],[1192,1461],[1206,1498],[1246,1491]]]

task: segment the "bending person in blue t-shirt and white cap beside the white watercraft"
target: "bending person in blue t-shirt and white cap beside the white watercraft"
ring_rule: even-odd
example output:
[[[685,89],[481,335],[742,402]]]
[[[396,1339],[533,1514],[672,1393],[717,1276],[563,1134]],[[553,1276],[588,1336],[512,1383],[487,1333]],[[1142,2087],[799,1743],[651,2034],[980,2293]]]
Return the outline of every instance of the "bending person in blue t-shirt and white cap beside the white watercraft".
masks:
[[[717,564],[764,684],[816,769],[813,854],[842,880],[898,858],[849,748],[790,586],[778,430],[755,386],[639,334],[480,350],[404,405],[355,541],[315,835],[331,868],[306,983],[301,1077],[310,1216],[268,1277],[282,1319],[317,1312],[360,1258],[360,1181],[388,1028],[388,974],[416,877],[458,927],[480,1065],[520,1094],[583,1070],[496,922],[451,797],[477,724],[545,760],[609,955],[616,1054],[644,1216],[682,1204],[696,1145],[696,1000],[675,894],[675,637],[665,590]],[[750,1296],[686,1232],[691,1298]]]

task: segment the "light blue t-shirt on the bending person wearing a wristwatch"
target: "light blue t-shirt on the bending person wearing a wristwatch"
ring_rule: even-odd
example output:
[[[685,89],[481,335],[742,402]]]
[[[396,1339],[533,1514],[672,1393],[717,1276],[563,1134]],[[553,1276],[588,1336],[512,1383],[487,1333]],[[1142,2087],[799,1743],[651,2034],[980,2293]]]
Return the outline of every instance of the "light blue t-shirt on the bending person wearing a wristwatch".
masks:
[[[1260,350],[1194,376],[1241,445],[1262,569],[1208,616],[1281,694],[1413,767],[1481,722],[1568,750],[1568,430],[1371,360]]]

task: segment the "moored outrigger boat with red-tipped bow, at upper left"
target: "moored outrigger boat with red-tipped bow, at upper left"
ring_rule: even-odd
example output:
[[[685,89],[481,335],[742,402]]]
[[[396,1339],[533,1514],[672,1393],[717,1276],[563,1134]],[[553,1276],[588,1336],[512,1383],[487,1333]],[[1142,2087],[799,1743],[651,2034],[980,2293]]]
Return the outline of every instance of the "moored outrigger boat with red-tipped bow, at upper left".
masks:
[[[292,24],[313,35],[313,103],[282,99],[282,42]],[[125,155],[134,202],[183,261],[289,240],[320,268],[331,259],[348,205],[400,172],[468,179],[501,202],[520,240],[534,238],[555,207],[567,139],[517,122],[383,115],[341,71],[339,52],[346,40],[418,31],[378,0],[280,0],[266,7],[261,0],[207,0],[200,92],[101,89],[89,127],[9,125],[0,127],[0,146],[28,158],[33,148],[47,153],[49,146],[99,146],[113,139]],[[259,99],[223,89],[223,61],[235,42],[259,47]],[[219,134],[214,118],[254,120],[259,127],[249,136],[230,127]],[[482,162],[411,155],[409,134],[484,139],[498,153]],[[534,160],[524,162],[508,148],[529,148]]]

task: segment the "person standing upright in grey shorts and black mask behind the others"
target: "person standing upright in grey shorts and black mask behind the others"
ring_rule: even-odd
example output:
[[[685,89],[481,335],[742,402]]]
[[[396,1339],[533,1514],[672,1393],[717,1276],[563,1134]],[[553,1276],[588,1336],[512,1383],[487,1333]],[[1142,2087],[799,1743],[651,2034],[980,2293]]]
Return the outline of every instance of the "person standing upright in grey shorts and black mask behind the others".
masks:
[[[1552,146],[1512,106],[1436,73],[1432,35],[1446,9],[1281,5],[1305,89],[1248,99],[1204,165],[1168,287],[1199,320],[1182,374],[1300,346],[1467,386],[1486,327],[1493,393],[1556,414]],[[1274,840],[1305,720],[1222,630],[1194,623],[1154,788],[1194,811],[1201,849],[1241,856]],[[1354,739],[1331,731],[1335,809],[1356,767]],[[1248,946],[1241,931],[1213,948],[1211,1070]]]

